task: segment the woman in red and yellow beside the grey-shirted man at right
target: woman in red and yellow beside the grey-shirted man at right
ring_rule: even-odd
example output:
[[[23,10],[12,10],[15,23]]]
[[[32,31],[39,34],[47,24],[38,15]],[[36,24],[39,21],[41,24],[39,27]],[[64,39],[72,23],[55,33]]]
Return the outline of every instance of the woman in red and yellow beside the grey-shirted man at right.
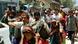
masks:
[[[63,11],[60,12],[62,17],[60,18],[60,40],[61,44],[65,44],[65,38],[67,35],[66,32],[66,19],[67,19],[67,14]]]

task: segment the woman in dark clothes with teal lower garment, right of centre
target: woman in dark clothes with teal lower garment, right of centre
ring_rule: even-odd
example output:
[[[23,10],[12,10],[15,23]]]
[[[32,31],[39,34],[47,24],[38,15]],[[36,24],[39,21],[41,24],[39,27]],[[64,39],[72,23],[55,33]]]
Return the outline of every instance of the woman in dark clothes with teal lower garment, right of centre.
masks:
[[[52,21],[50,44],[60,44],[59,23],[55,20]]]

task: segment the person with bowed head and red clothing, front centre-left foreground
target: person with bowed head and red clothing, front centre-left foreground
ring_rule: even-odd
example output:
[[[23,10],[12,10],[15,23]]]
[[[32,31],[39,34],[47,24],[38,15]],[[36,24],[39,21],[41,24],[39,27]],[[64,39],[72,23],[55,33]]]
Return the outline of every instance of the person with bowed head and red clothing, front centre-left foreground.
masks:
[[[30,26],[23,26],[20,44],[35,44],[34,31]]]

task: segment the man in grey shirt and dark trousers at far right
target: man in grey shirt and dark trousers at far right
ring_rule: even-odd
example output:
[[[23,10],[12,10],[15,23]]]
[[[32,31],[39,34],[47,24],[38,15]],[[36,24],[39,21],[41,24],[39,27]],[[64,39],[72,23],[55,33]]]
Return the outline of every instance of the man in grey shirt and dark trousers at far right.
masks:
[[[73,15],[73,11],[69,11],[69,16],[67,18],[67,31],[68,38],[71,40],[71,44],[74,44],[74,34],[76,31],[76,18]]]

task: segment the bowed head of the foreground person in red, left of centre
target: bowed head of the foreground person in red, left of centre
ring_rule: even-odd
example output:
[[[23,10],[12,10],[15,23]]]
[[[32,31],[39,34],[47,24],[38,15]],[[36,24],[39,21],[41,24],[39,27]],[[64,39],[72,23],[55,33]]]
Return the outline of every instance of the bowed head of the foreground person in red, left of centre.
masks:
[[[24,38],[27,40],[31,40],[34,37],[34,32],[32,27],[30,26],[25,26],[23,30]]]

